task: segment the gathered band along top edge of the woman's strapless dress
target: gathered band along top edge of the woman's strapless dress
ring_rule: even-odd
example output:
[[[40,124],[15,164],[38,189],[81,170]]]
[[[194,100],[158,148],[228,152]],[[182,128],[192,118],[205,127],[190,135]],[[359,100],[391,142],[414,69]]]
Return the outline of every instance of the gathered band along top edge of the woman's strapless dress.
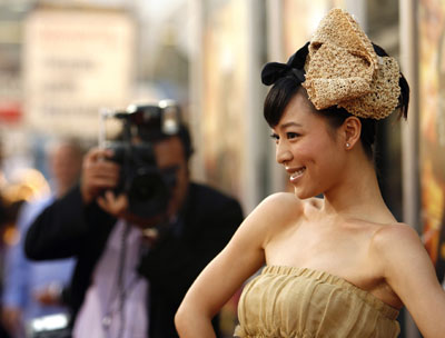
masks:
[[[323,284],[330,284],[338,286],[345,290],[352,291],[360,297],[364,301],[373,306],[376,310],[380,311],[385,317],[389,319],[396,319],[399,310],[393,306],[386,304],[382,299],[377,298],[369,291],[366,291],[347,279],[326,272],[322,270],[316,270],[312,268],[291,267],[291,266],[279,266],[271,265],[265,266],[261,270],[261,275],[284,275],[284,276],[296,276],[304,277],[308,279],[315,279]]]

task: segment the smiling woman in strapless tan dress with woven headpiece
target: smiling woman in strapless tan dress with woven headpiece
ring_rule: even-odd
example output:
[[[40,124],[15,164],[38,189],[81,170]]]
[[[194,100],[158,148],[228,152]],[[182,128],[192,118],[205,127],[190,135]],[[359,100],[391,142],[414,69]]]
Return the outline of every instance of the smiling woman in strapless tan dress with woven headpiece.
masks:
[[[373,163],[376,120],[406,117],[397,62],[335,9],[263,82],[274,83],[265,117],[295,193],[266,198],[201,272],[176,316],[180,337],[215,337],[212,316],[264,265],[244,288],[237,337],[396,337],[402,306],[425,337],[444,337],[445,292]]]

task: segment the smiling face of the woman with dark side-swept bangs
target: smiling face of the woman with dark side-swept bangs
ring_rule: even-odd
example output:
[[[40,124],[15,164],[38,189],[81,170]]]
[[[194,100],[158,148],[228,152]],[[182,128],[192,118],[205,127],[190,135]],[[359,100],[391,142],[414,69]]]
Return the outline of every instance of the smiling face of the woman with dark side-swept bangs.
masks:
[[[276,160],[285,166],[298,198],[324,193],[342,175],[345,145],[315,112],[304,89],[289,101],[273,137]]]

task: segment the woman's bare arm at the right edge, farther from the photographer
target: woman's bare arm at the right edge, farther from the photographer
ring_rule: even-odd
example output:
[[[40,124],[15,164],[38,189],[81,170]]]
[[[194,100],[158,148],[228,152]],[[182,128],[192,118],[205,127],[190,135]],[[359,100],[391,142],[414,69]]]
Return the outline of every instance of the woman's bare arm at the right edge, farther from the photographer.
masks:
[[[394,225],[377,231],[373,243],[387,284],[426,338],[445,336],[445,291],[414,229]]]

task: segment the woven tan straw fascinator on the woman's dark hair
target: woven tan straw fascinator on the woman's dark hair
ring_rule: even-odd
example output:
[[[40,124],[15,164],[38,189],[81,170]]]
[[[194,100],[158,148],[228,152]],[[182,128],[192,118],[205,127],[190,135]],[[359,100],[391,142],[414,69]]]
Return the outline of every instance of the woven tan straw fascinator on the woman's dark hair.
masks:
[[[305,63],[306,88],[317,109],[343,107],[362,118],[383,119],[398,105],[399,68],[378,57],[354,18],[333,9],[314,33]]]

